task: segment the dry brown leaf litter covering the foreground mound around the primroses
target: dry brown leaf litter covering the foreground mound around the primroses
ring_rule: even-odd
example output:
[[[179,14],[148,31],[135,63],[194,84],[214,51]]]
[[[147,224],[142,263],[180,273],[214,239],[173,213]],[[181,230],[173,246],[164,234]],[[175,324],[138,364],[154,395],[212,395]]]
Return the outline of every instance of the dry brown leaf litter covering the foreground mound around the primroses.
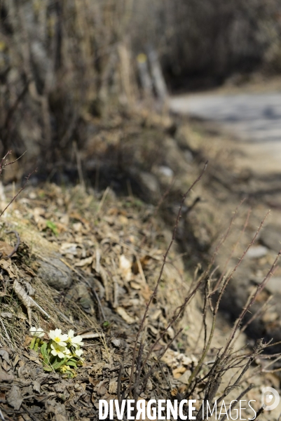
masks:
[[[8,243],[7,227],[21,241],[6,265],[0,260],[2,413],[7,420],[97,419],[99,399],[117,399],[121,363],[121,388],[128,387],[137,328],[166,246],[163,223],[134,198],[116,199],[111,192],[101,208],[99,197],[80,187],[64,192],[46,185],[27,189],[6,215],[1,239]],[[171,259],[175,256],[173,250]],[[68,276],[67,288],[60,279],[52,283],[40,270],[43,265],[58,278]],[[147,320],[144,355],[181,300],[179,272],[184,274],[180,259],[176,269],[174,264],[165,269]],[[85,360],[74,377],[43,370],[40,354],[29,349],[29,326],[71,328],[81,335]],[[167,331],[160,338],[151,359],[171,335]],[[165,377],[172,376],[176,354],[167,354],[154,377],[158,392],[149,379],[142,398],[151,399],[160,390],[170,393],[177,379],[167,382]],[[184,370],[194,361],[196,356],[181,361]]]

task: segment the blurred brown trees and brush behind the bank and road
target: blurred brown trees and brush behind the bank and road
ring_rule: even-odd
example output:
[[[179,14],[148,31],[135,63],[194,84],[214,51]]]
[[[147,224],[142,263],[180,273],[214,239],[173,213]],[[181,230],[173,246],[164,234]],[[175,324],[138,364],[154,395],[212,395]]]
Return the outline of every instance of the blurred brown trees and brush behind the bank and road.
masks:
[[[281,67],[277,0],[1,0],[0,12],[1,154],[28,149],[47,173],[83,149],[91,118],[142,98],[139,53],[158,53],[171,90]]]

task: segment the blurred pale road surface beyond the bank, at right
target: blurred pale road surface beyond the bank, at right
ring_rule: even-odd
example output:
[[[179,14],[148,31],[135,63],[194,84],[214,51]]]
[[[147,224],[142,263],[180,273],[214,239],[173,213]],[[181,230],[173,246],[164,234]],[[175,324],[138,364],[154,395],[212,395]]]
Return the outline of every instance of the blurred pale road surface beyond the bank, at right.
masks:
[[[234,135],[242,166],[259,174],[281,172],[281,93],[174,96],[170,109],[217,123]]]

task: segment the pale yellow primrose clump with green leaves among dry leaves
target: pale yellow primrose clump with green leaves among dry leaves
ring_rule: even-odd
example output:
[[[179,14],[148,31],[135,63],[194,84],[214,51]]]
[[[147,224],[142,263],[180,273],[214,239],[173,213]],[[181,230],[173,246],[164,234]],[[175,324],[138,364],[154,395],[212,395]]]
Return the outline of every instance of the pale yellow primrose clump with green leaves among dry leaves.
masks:
[[[30,348],[37,351],[40,347],[44,370],[58,370],[71,375],[73,368],[77,368],[76,364],[81,365],[83,342],[80,335],[74,335],[74,330],[70,329],[68,333],[62,333],[61,329],[50,330],[48,342],[43,340],[45,332],[42,328],[32,327],[29,334],[32,336]]]

